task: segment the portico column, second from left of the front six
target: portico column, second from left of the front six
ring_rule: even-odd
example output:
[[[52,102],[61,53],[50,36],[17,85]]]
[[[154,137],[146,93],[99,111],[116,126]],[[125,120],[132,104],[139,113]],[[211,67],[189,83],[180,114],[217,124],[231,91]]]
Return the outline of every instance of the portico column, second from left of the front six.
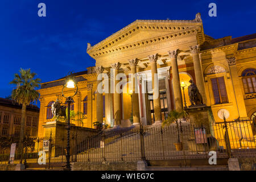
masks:
[[[117,92],[116,85],[118,84],[119,80],[116,80],[116,76],[118,74],[118,69],[120,68],[119,63],[111,64],[111,67],[114,69],[114,80],[115,80],[115,87],[114,87],[114,126],[118,127],[121,125],[121,100],[120,94]]]

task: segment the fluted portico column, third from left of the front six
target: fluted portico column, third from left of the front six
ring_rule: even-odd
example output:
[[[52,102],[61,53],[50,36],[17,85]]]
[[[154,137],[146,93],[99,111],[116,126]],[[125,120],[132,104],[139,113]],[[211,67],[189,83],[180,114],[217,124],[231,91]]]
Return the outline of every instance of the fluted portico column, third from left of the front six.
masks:
[[[137,87],[137,63],[138,61],[136,59],[131,59],[128,60],[130,67],[131,67],[131,73],[133,76],[131,77],[132,83],[133,83],[133,88],[132,89],[132,94],[131,94],[131,104],[133,105],[133,123],[134,125],[138,125],[140,121],[139,117],[139,94],[138,92],[135,92],[135,90],[138,91],[138,89],[135,89]]]

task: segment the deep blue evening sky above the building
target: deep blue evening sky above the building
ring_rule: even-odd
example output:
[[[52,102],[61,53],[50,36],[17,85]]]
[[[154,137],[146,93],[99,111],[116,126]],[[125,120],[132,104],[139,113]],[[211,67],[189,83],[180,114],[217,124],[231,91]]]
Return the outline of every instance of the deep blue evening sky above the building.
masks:
[[[38,4],[46,3],[46,17]],[[217,17],[208,5],[217,5]],[[42,82],[94,65],[92,46],[136,19],[194,19],[200,12],[204,32],[213,38],[254,34],[255,1],[0,1],[0,97],[9,96],[14,73],[31,68]]]

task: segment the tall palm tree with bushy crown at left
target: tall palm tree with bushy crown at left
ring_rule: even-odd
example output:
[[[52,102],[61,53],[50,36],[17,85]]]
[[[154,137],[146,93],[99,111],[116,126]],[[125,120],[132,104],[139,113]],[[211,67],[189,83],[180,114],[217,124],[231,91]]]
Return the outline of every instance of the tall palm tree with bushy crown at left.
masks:
[[[16,87],[11,93],[13,100],[22,105],[22,121],[20,123],[20,134],[19,134],[19,150],[22,150],[22,140],[24,138],[24,127],[25,127],[25,116],[26,107],[31,102],[39,99],[39,92],[35,90],[40,85],[40,79],[34,78],[36,73],[31,73],[30,69],[20,68],[19,74],[14,74],[14,80],[10,84],[15,84]]]

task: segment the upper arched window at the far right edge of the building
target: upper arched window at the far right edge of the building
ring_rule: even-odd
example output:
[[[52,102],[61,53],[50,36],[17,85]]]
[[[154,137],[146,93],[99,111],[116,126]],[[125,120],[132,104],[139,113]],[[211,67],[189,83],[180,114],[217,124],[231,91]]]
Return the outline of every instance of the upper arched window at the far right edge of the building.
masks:
[[[256,69],[249,68],[242,72],[243,88],[245,93],[256,92]]]

